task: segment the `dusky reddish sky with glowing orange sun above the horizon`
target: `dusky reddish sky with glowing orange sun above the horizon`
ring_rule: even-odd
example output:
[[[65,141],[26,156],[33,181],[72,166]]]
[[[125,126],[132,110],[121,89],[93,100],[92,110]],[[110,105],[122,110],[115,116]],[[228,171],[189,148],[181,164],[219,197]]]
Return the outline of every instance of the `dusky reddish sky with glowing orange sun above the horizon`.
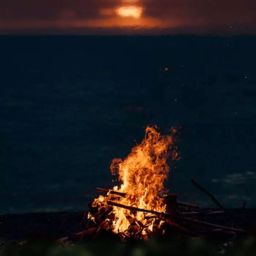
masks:
[[[0,34],[256,34],[254,0],[1,0]]]

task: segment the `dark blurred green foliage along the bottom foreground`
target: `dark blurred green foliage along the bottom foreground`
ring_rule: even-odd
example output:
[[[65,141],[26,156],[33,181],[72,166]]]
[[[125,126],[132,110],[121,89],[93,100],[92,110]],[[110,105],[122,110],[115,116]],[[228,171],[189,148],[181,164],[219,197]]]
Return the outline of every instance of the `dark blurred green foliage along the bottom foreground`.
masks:
[[[0,256],[256,256],[256,239],[225,244],[206,242],[200,238],[191,242],[157,241],[136,243],[94,242],[60,246],[49,242],[31,242],[23,247],[1,245]]]

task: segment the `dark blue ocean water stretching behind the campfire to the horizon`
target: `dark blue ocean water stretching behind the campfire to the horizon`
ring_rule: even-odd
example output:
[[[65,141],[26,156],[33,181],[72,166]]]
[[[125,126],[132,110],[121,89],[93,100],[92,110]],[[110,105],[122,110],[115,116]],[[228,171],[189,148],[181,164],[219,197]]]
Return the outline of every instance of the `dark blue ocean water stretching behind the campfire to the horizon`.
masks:
[[[1,37],[0,214],[80,211],[148,124],[182,126],[166,187],[256,207],[255,37]],[[168,68],[167,71],[164,71]]]

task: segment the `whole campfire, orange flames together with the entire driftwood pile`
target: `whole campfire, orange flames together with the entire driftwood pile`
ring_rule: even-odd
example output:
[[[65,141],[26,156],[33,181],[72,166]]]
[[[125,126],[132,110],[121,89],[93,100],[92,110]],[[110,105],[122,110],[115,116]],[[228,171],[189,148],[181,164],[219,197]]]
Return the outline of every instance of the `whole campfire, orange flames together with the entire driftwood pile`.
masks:
[[[171,129],[170,135],[161,135],[156,126],[147,127],[142,142],[133,147],[124,160],[113,159],[110,170],[113,175],[118,175],[120,185],[112,189],[97,188],[105,195],[99,195],[90,204],[88,229],[81,234],[97,236],[100,231],[108,230],[118,234],[121,241],[127,241],[130,238],[148,240],[150,236],[166,233],[181,233],[192,238],[195,230],[197,235],[217,231],[225,234],[246,233],[241,229],[197,219],[226,212],[215,197],[193,179],[193,184],[211,197],[219,211],[201,210],[195,204],[178,202],[176,194],[168,194],[163,183],[170,170],[167,159],[179,159],[174,145],[177,135],[175,128]]]

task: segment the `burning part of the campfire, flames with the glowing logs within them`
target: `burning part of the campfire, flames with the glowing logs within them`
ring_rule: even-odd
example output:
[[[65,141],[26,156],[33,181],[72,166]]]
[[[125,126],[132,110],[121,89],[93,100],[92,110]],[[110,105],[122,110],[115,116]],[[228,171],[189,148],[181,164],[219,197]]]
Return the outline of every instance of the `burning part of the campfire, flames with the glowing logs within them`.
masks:
[[[166,161],[169,157],[178,159],[174,146],[177,130],[173,128],[171,133],[163,136],[157,127],[147,127],[145,138],[132,148],[127,158],[113,159],[110,169],[113,175],[118,174],[121,184],[110,190],[98,188],[106,196],[100,195],[92,203],[97,212],[108,211],[104,228],[123,238],[130,234],[147,238],[150,232],[164,232],[161,226],[165,222],[167,191],[163,182],[169,173]],[[95,220],[94,215],[89,214],[89,218]]]

